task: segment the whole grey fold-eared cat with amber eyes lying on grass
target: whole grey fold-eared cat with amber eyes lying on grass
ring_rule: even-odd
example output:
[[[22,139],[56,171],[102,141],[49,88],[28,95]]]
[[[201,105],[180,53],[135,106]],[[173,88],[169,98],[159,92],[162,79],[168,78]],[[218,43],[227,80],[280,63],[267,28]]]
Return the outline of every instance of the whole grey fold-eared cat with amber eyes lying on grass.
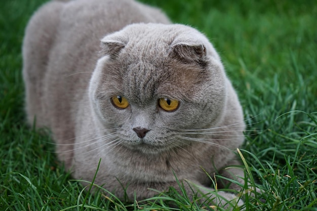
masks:
[[[213,198],[217,173],[243,183],[234,150],[243,111],[208,38],[132,0],[52,1],[23,40],[29,124],[51,130],[56,153],[77,179],[118,198],[166,191]],[[176,176],[176,177],[175,177]],[[218,187],[241,187],[227,180]],[[124,188],[122,187],[124,186]],[[243,201],[232,193],[212,203]],[[222,205],[221,205],[222,204]]]

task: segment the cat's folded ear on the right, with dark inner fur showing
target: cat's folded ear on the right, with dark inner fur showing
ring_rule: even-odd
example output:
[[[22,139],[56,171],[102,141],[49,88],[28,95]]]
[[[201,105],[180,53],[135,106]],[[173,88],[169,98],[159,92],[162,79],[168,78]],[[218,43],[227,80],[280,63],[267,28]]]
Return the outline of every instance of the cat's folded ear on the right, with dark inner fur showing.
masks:
[[[185,63],[197,63],[205,66],[206,55],[206,47],[203,44],[179,43],[172,46],[172,56]]]

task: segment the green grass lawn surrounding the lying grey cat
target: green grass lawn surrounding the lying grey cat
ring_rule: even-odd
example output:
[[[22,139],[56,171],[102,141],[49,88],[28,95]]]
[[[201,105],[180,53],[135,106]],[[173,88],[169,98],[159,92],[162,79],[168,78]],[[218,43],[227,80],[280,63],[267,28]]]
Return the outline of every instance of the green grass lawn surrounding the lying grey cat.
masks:
[[[21,43],[43,2],[0,7],[0,210],[169,210],[169,202],[206,209],[173,188],[138,203],[89,194],[64,172],[49,136],[26,126]],[[264,190],[243,196],[247,210],[317,210],[315,1],[142,2],[203,31],[220,53],[250,131],[241,149],[246,175]]]

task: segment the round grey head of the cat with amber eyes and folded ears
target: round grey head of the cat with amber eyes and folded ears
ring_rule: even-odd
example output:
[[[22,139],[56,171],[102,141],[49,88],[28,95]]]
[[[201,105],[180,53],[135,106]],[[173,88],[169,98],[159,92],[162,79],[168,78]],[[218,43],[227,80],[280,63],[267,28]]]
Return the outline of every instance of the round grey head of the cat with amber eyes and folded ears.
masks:
[[[106,56],[90,99],[104,128],[125,146],[145,153],[181,146],[183,132],[221,118],[223,67],[208,40],[188,28],[136,24],[102,40]]]

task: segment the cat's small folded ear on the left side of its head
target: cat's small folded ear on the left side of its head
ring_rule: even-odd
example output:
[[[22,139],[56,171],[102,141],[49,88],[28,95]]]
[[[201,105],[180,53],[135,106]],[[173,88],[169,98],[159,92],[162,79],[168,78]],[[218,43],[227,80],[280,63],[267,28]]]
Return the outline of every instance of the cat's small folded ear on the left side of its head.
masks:
[[[120,37],[105,36],[101,40],[101,54],[109,55],[110,58],[115,59],[126,45],[127,43]]]

